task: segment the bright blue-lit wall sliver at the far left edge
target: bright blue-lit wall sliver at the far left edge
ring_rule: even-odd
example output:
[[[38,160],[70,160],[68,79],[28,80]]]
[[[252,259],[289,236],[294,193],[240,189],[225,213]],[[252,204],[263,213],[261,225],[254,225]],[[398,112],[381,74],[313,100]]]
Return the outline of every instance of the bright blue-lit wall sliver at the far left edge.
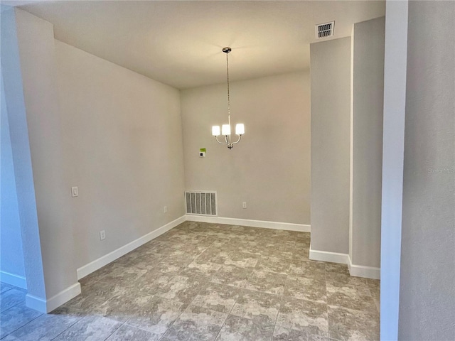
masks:
[[[19,288],[27,288],[21,237],[21,221],[17,202],[13,153],[9,136],[8,114],[4,93],[3,70],[1,87],[1,151],[0,151],[0,278]]]

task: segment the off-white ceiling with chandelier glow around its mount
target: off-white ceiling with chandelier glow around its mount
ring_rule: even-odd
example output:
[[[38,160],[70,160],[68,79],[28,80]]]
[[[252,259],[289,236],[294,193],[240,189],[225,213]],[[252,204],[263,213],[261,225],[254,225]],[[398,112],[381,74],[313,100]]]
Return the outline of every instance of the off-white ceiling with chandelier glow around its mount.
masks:
[[[6,1],[2,1],[3,3]],[[385,15],[384,1],[33,1],[55,38],[178,89],[309,68],[314,26]]]

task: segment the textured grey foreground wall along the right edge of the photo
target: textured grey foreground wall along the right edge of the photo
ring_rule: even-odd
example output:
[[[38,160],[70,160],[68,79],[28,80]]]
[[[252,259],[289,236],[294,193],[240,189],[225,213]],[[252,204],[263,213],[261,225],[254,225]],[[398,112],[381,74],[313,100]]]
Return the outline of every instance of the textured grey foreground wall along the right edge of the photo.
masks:
[[[455,340],[455,3],[408,15],[398,339]]]

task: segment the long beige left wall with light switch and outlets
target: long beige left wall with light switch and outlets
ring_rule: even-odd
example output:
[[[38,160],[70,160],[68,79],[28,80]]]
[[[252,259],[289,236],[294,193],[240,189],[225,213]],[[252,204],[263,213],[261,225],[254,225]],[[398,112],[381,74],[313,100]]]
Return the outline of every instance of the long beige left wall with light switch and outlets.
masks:
[[[77,269],[184,214],[180,101],[173,87],[58,40],[55,53]]]

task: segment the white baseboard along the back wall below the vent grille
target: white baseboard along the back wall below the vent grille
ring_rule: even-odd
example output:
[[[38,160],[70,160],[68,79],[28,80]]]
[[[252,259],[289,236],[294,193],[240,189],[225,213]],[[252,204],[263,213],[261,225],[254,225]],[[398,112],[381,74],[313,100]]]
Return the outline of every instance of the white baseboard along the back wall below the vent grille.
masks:
[[[291,222],[266,222],[264,220],[207,217],[204,215],[186,215],[185,217],[189,222],[210,222],[213,224],[228,224],[248,227],[262,227],[264,229],[285,229],[287,231],[311,232],[311,225],[292,224]]]

